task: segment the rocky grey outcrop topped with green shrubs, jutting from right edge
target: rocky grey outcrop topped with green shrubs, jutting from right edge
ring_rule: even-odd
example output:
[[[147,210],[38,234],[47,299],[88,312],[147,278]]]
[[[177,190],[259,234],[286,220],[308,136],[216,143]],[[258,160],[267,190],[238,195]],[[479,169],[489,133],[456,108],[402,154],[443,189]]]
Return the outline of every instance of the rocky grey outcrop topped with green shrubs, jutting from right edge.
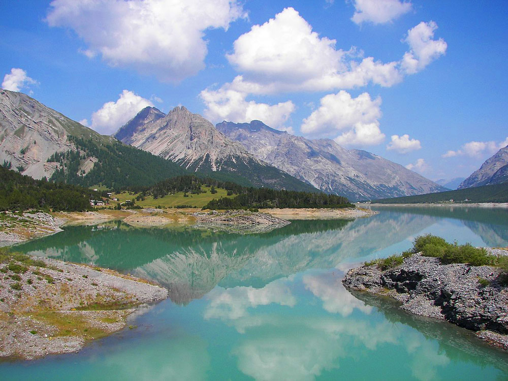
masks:
[[[400,255],[348,271],[342,283],[391,297],[405,311],[454,323],[508,350],[508,248],[420,236]]]

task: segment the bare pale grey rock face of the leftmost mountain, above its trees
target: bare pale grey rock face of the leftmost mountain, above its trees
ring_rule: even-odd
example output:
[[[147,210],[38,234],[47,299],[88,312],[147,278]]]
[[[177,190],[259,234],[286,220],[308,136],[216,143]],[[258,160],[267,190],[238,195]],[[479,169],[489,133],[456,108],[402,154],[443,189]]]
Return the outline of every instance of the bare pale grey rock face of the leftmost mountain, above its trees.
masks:
[[[109,139],[26,94],[0,89],[0,164],[7,161],[24,175],[49,178],[59,164],[48,163],[48,158],[55,152],[76,150],[71,135]],[[93,160],[83,164],[87,172]]]

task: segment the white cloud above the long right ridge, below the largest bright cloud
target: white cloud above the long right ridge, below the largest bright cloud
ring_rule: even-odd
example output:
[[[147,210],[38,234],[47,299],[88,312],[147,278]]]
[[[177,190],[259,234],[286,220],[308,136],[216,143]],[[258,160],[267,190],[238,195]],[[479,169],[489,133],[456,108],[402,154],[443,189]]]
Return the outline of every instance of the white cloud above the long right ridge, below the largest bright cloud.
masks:
[[[352,98],[347,91],[328,94],[321,106],[303,120],[300,130],[312,137],[332,137],[342,145],[375,145],[385,138],[379,130],[381,98],[367,92]],[[338,135],[342,133],[341,135]]]

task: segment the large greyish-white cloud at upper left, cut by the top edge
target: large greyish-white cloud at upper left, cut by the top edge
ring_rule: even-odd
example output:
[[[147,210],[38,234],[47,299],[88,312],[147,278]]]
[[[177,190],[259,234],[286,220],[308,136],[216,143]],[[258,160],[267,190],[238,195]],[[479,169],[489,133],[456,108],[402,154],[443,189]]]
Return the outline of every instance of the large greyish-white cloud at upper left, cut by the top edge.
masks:
[[[54,0],[46,21],[69,27],[113,67],[129,67],[163,81],[204,68],[204,32],[246,17],[236,0]]]

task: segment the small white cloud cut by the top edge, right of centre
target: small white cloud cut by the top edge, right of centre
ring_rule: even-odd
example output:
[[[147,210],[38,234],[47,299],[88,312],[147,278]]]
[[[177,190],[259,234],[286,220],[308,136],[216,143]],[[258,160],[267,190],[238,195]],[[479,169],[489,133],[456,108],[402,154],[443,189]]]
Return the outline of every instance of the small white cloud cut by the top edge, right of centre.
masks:
[[[351,18],[356,24],[370,21],[374,24],[390,22],[412,9],[411,3],[399,0],[354,0],[355,14]]]

